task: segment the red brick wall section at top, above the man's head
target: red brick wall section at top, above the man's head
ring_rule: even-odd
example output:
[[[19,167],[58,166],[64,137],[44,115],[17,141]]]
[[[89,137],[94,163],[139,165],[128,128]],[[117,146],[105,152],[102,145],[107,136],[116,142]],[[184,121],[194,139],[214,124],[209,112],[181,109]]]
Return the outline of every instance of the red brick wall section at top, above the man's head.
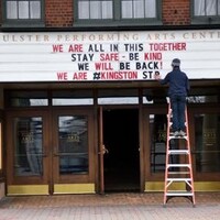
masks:
[[[190,0],[163,0],[164,25],[189,25]]]

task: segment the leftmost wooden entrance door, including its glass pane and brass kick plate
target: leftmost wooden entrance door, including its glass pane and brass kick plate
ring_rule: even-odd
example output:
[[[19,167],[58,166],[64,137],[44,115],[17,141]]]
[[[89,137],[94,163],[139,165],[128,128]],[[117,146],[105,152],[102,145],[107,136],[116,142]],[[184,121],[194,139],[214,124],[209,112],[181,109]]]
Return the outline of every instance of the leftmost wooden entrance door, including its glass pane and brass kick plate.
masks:
[[[46,112],[7,117],[8,195],[48,194],[47,130]]]

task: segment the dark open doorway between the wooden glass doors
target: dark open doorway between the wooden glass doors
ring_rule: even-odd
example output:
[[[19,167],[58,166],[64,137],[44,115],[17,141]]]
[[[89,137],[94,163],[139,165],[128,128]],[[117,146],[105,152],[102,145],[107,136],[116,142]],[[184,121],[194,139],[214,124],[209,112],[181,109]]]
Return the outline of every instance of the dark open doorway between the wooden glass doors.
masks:
[[[103,111],[105,190],[140,191],[139,110]]]

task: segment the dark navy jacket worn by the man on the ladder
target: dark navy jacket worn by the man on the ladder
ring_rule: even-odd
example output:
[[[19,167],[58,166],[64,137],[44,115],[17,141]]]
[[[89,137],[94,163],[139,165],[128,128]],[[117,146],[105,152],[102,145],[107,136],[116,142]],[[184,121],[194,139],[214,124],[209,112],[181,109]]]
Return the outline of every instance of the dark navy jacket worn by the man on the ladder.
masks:
[[[162,85],[168,84],[168,96],[178,95],[187,96],[189,91],[189,80],[187,75],[179,68],[174,68],[173,72],[168,73],[164,79],[161,80]]]

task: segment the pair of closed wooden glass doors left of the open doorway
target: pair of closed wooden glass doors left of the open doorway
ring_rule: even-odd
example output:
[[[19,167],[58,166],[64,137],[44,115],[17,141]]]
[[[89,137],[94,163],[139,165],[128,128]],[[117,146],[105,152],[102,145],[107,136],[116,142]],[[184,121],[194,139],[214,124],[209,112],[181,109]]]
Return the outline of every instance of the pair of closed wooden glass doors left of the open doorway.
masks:
[[[8,195],[95,193],[91,112],[8,112]]]

